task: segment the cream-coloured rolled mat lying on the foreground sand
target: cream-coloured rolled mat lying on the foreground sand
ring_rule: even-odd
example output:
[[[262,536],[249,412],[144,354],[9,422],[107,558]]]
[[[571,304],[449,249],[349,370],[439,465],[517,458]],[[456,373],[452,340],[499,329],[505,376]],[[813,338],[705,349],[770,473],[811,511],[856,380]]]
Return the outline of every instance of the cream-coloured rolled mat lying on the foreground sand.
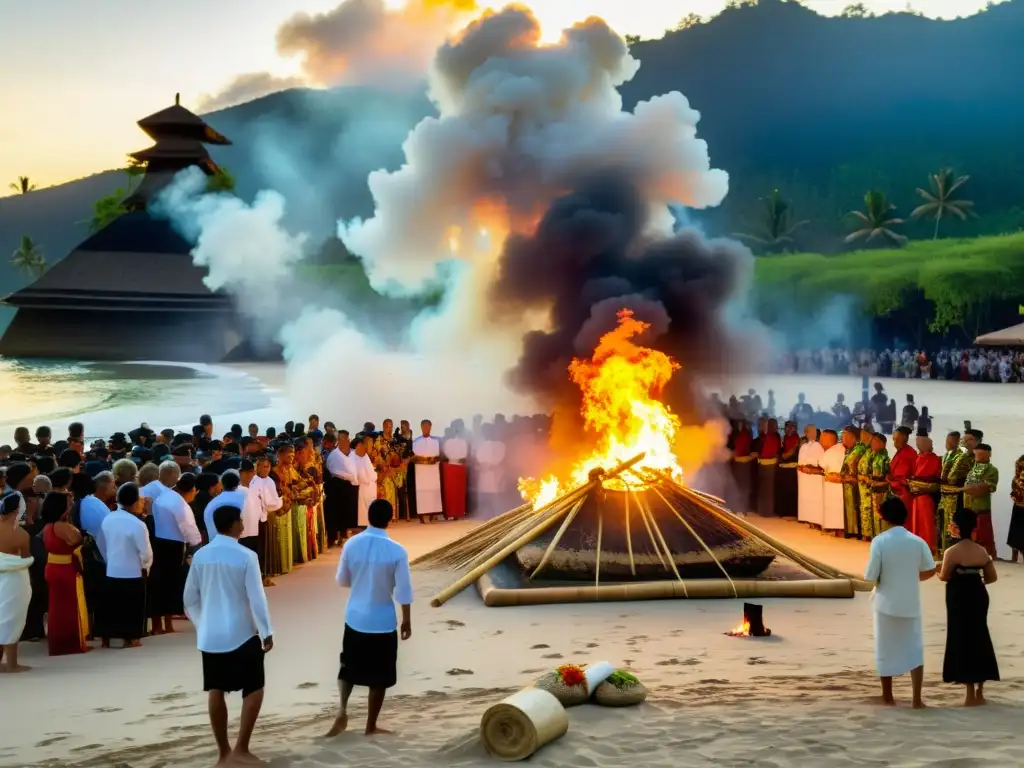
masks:
[[[524,688],[483,713],[480,740],[492,757],[515,762],[564,736],[568,729],[568,715],[557,698],[540,688]]]

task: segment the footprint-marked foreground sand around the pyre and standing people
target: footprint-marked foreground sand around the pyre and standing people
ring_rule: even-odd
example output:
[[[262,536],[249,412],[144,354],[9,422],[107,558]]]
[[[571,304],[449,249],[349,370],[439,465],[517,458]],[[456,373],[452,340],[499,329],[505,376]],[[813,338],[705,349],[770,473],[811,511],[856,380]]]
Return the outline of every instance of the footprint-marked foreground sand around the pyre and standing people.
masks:
[[[756,518],[751,518],[756,520]],[[790,546],[837,567],[861,571],[867,545],[840,541],[796,522],[759,521]],[[401,524],[394,536],[415,557],[472,522]],[[268,591],[275,646],[254,750],[272,766],[477,766],[494,764],[476,731],[483,711],[541,673],[566,662],[607,659],[631,668],[651,689],[627,711],[570,710],[569,732],[542,750],[540,766],[1010,766],[1024,680],[1016,595],[1024,565],[999,564],[989,625],[1006,682],[989,687],[987,708],[955,706],[943,685],[943,586],[924,585],[926,696],[909,709],[876,706],[869,597],[765,600],[768,639],[729,638],[735,600],[658,601],[487,608],[467,590],[441,608],[430,596],[452,580],[414,572],[414,635],[399,656],[399,683],[382,724],[396,736],[368,739],[357,725],[333,741],[326,731],[336,700],[345,591],[334,584],[337,554],[302,566]],[[138,650],[92,650],[50,658],[24,646],[35,669],[0,680],[0,766],[212,765],[200,656],[190,626],[151,638]],[[13,706],[10,706],[13,705]],[[232,715],[239,699],[229,700]]]

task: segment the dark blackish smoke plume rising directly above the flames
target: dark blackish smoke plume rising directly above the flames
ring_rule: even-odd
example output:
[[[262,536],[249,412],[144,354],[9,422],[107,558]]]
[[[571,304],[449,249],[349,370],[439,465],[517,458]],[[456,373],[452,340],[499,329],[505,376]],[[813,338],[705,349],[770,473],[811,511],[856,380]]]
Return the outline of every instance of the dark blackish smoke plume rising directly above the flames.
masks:
[[[726,308],[750,273],[750,250],[695,229],[650,236],[649,218],[627,175],[608,173],[556,200],[532,237],[509,238],[492,295],[496,319],[552,306],[551,330],[523,339],[508,374],[513,388],[542,402],[562,401],[574,389],[569,361],[588,355],[623,308],[651,324],[653,338],[639,343],[682,365],[668,393],[677,412],[689,411],[688,385],[745,361],[750,341],[730,327]]]

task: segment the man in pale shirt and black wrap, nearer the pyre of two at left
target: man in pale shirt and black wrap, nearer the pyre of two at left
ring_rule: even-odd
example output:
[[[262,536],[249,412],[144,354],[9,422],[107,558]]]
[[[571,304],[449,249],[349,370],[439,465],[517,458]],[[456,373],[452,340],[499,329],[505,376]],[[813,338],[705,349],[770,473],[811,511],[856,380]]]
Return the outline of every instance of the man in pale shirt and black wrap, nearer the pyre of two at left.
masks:
[[[413,579],[406,548],[387,535],[393,510],[386,499],[370,505],[370,527],[352,537],[341,550],[337,582],[350,587],[345,606],[338,690],[341,712],[328,732],[337,736],[348,726],[348,698],[356,685],[370,688],[367,735],[387,733],[377,726],[387,689],[397,682],[398,623],[394,604],[401,605],[401,639],[413,636]]]

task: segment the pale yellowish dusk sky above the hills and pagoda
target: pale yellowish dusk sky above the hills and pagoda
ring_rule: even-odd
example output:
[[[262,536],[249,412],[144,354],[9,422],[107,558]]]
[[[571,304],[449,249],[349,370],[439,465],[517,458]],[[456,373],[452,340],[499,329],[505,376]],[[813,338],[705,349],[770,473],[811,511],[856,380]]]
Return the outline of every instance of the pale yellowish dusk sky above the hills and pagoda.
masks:
[[[148,138],[135,121],[173,103],[194,108],[236,76],[267,72],[287,78],[299,62],[282,58],[279,26],[298,11],[317,13],[338,0],[0,0],[0,195],[27,175],[46,186],[124,166]],[[395,3],[400,4],[400,3]],[[483,3],[500,6],[504,2]],[[659,37],[695,12],[710,15],[725,0],[530,0],[545,27],[601,15],[622,34]],[[804,0],[839,13],[850,0]],[[906,0],[865,0],[877,13]],[[974,13],[986,0],[916,0],[929,15]]]

